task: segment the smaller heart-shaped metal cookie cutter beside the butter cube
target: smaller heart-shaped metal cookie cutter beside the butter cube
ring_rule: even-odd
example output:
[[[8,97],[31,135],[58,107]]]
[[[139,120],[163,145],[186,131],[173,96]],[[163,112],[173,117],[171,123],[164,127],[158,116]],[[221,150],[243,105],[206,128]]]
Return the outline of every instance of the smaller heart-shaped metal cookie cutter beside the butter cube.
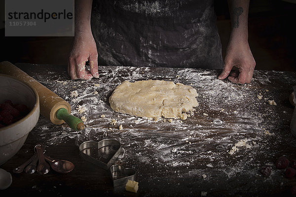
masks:
[[[110,167],[111,177],[113,180],[113,187],[125,185],[127,180],[134,181],[136,171],[132,168],[125,168],[122,165],[112,165]]]

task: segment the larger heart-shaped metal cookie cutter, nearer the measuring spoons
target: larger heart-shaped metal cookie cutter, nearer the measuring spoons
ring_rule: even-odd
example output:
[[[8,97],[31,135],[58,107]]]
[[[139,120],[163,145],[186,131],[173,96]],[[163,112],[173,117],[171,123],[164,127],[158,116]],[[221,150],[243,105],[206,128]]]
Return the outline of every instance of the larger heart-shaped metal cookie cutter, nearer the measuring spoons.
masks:
[[[120,154],[121,144],[115,139],[86,141],[80,144],[79,151],[85,160],[109,170]]]

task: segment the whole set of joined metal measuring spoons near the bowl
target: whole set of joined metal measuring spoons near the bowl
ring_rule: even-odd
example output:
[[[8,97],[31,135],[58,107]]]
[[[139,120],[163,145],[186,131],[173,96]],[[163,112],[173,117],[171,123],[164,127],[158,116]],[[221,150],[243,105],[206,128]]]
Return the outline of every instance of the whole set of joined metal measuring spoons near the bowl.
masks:
[[[34,147],[35,154],[24,164],[14,168],[14,173],[25,171],[28,174],[37,172],[38,174],[47,174],[52,168],[56,172],[67,173],[74,169],[74,164],[66,160],[53,159],[45,155],[44,147],[37,144]]]

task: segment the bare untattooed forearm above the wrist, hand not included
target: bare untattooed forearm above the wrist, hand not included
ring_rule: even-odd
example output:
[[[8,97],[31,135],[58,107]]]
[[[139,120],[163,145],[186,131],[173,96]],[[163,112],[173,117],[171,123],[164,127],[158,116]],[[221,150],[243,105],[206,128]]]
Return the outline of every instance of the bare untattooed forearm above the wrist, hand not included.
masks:
[[[75,0],[75,34],[91,32],[90,15],[92,0]]]

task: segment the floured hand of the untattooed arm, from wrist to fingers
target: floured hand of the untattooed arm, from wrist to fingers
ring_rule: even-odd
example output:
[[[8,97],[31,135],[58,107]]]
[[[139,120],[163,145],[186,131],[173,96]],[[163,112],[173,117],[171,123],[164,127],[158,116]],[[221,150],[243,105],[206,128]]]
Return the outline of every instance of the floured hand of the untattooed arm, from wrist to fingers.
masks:
[[[68,74],[72,79],[98,78],[98,52],[91,32],[76,33],[68,59]],[[89,61],[90,71],[85,70]]]

